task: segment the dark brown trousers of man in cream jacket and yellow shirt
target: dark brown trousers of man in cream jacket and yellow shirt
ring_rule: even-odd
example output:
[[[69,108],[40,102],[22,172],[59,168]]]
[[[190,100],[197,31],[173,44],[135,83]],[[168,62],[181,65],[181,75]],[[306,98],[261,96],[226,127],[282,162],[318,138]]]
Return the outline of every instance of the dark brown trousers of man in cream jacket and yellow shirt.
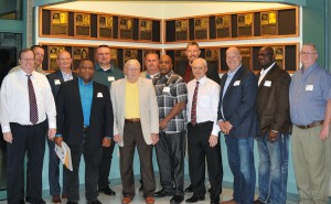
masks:
[[[143,197],[153,197],[156,191],[156,178],[152,165],[152,146],[148,146],[145,142],[141,124],[126,122],[122,138],[124,147],[119,148],[122,195],[130,198],[134,198],[136,195],[132,162],[137,146],[141,165],[141,179],[143,182]]]

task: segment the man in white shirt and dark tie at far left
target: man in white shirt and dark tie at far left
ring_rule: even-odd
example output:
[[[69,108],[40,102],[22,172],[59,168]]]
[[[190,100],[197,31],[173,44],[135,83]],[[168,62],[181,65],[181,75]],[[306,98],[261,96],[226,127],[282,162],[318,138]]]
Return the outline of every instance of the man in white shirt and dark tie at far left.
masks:
[[[24,157],[31,162],[31,203],[42,200],[42,169],[45,151],[45,132],[49,138],[56,132],[56,109],[47,78],[34,71],[32,50],[20,52],[21,69],[7,75],[1,86],[1,127],[7,141],[7,192],[8,203],[24,203]]]

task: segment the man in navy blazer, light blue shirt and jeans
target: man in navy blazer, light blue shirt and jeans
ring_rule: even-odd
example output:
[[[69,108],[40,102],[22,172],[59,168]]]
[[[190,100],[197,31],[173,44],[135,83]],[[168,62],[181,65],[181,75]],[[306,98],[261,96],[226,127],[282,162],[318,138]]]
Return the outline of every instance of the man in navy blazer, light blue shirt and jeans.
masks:
[[[257,82],[242,65],[237,47],[226,51],[228,73],[221,79],[218,125],[225,135],[227,159],[234,175],[233,200],[224,204],[252,204],[255,191],[254,137],[257,136]]]

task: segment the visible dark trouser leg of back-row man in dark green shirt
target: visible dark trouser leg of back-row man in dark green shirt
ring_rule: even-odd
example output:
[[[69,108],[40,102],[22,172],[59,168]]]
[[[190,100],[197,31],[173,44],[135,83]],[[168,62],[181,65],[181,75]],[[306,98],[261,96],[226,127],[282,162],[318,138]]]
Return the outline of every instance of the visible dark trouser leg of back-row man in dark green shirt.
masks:
[[[109,148],[103,148],[103,157],[99,164],[99,189],[108,186],[108,178],[110,173],[113,152],[115,148],[115,142],[111,142]]]

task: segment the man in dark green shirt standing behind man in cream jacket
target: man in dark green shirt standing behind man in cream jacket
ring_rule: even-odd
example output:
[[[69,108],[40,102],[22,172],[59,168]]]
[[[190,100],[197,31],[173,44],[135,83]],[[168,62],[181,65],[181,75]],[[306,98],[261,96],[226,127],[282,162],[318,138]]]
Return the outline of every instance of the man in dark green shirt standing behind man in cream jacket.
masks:
[[[110,60],[110,47],[108,45],[99,45],[96,50],[97,63],[93,80],[106,85],[109,89],[113,82],[124,78],[122,72],[115,67]],[[109,148],[103,148],[103,158],[99,164],[98,191],[106,195],[116,195],[108,186],[114,148],[115,142],[111,142]]]

